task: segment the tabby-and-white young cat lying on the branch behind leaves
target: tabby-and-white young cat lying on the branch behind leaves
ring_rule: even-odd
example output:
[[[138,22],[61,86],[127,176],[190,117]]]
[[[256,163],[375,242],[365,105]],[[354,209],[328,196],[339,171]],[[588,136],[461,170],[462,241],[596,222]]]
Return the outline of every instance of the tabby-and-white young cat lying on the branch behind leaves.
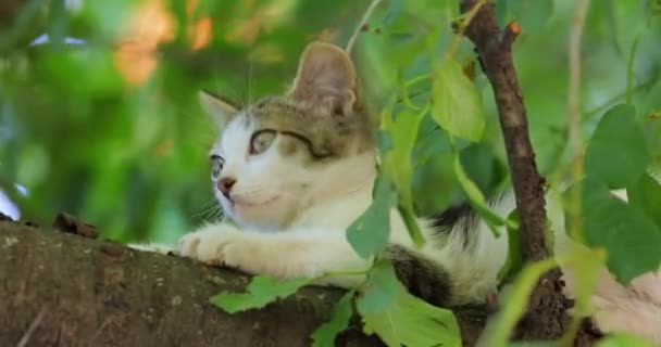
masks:
[[[185,234],[179,255],[280,279],[370,267],[348,243],[346,230],[372,202],[378,155],[374,125],[344,50],[310,43],[283,95],[245,108],[208,92],[200,92],[200,101],[221,131],[210,152],[211,181],[229,220]],[[512,192],[489,204],[501,216],[515,207]],[[562,209],[552,203],[548,208],[559,250],[571,242],[562,230]],[[466,204],[417,223],[426,240],[421,248],[392,209],[386,248],[413,295],[447,307],[483,304],[497,292],[507,232],[496,237]],[[350,287],[361,280],[360,274],[329,277],[320,284]],[[604,270],[600,281],[593,297],[599,327],[661,343],[658,275],[647,274],[636,280],[644,284],[634,281],[625,288]],[[571,285],[569,291],[571,296]]]

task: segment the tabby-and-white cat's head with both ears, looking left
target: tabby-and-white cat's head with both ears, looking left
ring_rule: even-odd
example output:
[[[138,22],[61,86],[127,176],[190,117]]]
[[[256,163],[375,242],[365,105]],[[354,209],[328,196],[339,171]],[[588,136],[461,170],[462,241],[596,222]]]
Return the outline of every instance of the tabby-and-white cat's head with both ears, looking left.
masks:
[[[287,227],[374,177],[371,120],[356,70],[333,44],[308,46],[283,95],[244,108],[205,92],[200,98],[221,129],[211,151],[213,190],[239,224]]]

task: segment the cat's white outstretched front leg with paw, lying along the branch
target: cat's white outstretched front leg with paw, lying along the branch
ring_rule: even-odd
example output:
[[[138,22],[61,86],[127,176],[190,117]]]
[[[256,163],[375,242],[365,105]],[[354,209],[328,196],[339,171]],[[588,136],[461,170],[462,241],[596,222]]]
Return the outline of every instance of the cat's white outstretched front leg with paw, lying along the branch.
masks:
[[[369,267],[348,244],[344,230],[262,233],[214,224],[182,237],[179,254],[210,265],[280,279],[317,278]],[[337,277],[320,283],[350,286],[357,280]]]

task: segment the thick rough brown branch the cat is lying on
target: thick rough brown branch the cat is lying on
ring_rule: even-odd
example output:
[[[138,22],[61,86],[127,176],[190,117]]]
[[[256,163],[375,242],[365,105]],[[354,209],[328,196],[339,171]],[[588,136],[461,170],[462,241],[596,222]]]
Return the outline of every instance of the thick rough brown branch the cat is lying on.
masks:
[[[0,346],[309,346],[342,291],[307,287],[261,310],[209,304],[249,278],[175,256],[0,222]],[[458,318],[466,345],[482,309]],[[353,326],[340,346],[381,346]]]

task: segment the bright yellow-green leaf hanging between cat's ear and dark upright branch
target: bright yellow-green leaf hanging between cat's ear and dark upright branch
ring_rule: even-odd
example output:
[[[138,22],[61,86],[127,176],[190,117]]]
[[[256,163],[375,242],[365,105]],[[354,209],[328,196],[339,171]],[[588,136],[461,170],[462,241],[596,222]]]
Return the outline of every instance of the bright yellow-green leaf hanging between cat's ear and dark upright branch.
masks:
[[[479,92],[461,65],[446,59],[434,74],[432,115],[454,137],[477,142],[485,129]]]

